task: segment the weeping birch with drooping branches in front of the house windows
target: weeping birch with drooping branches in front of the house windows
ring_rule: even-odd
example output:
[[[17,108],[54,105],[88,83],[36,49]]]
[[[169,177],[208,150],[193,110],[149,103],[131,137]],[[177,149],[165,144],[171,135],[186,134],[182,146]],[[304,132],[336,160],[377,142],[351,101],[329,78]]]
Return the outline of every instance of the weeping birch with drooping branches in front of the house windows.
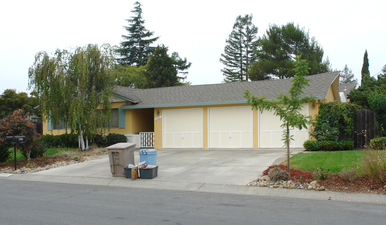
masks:
[[[105,127],[111,117],[114,65],[110,45],[88,44],[73,51],[57,49],[53,56],[38,52],[29,68],[29,89],[40,98],[43,119],[63,122],[77,133],[81,150],[88,148],[83,136]]]

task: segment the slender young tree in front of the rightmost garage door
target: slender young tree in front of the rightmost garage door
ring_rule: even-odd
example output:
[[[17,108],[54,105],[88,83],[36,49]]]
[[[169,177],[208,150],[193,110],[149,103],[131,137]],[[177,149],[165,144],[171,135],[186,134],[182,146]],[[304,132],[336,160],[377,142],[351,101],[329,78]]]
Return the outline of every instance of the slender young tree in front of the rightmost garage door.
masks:
[[[307,127],[311,116],[301,114],[302,104],[315,100],[314,97],[306,96],[301,97],[304,94],[303,89],[305,86],[310,86],[305,78],[308,75],[308,63],[306,60],[301,59],[300,56],[295,56],[295,62],[293,62],[295,71],[295,77],[291,79],[293,82],[287,95],[282,92],[276,97],[277,100],[269,100],[267,97],[256,97],[249,90],[245,90],[244,97],[247,98],[247,104],[252,105],[252,109],[260,110],[262,113],[264,110],[273,111],[274,115],[279,116],[283,122],[282,128],[286,128],[283,131],[286,137],[287,145],[287,170],[289,173],[289,128],[294,127],[301,130],[303,127]]]

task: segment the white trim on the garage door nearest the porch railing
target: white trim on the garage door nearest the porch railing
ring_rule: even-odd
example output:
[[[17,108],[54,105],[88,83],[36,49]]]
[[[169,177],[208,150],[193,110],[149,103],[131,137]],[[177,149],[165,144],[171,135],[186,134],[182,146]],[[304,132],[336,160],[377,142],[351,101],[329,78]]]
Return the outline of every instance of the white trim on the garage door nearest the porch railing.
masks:
[[[167,116],[165,116],[165,112],[167,114],[168,111],[200,111],[201,112],[201,131],[184,131],[184,132],[165,132],[165,121]],[[203,148],[203,108],[194,108],[194,109],[163,109],[162,110],[163,120],[162,120],[162,148]],[[189,118],[187,118],[189,119]],[[181,124],[183,125],[183,121],[181,121]],[[173,146],[166,146],[165,147],[165,135],[166,134],[173,134]],[[182,135],[182,146],[176,146],[175,145],[175,135],[181,134]],[[183,135],[185,134],[191,134],[191,140],[193,145],[193,134],[201,134],[201,146],[188,146],[184,147],[184,138]]]

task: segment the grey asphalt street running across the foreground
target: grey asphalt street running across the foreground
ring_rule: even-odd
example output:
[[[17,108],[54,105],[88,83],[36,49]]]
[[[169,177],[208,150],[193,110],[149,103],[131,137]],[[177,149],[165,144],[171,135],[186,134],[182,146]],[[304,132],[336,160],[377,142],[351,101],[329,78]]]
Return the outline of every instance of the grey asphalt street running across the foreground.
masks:
[[[0,179],[2,224],[384,224],[386,204]]]

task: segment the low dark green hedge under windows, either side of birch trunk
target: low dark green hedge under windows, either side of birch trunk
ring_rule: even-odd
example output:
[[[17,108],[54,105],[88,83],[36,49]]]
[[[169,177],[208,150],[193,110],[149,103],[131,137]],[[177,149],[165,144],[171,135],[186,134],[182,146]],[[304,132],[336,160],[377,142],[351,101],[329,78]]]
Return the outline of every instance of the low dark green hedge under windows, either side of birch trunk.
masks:
[[[77,134],[42,135],[42,140],[47,148],[78,148]],[[109,133],[108,135],[95,134],[88,138],[88,143],[95,143],[98,147],[107,147],[120,142],[127,142],[127,137],[122,134]]]

